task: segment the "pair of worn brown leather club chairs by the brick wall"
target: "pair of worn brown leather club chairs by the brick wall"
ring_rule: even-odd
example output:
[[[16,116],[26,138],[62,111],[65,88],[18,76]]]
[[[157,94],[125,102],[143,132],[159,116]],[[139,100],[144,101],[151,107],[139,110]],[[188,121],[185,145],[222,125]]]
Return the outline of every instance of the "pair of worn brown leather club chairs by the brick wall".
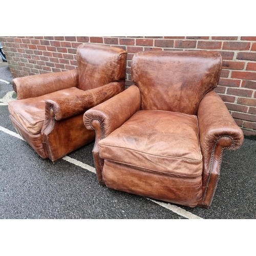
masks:
[[[82,45],[77,59],[75,71],[14,79],[18,100],[9,110],[18,133],[53,161],[95,139],[100,184],[208,208],[224,149],[236,150],[243,142],[214,91],[221,55],[136,53],[134,85],[125,91],[124,50]]]

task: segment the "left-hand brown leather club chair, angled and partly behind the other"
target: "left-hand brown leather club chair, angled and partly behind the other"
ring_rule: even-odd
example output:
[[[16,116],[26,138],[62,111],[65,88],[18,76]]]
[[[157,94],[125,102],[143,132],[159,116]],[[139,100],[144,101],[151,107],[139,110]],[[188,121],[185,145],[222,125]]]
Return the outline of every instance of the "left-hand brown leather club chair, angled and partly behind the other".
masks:
[[[76,70],[13,79],[17,100],[8,108],[16,131],[52,161],[93,141],[83,114],[124,90],[126,57],[117,47],[84,44]]]

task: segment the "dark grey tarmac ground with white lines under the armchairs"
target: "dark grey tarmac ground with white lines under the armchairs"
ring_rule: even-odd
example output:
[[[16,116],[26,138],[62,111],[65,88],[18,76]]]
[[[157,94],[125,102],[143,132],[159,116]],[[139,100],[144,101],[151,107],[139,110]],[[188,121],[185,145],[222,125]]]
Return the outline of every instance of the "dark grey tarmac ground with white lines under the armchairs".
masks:
[[[54,163],[40,158],[9,119],[16,95],[5,63],[0,79],[0,219],[256,219],[255,140],[224,152],[209,209],[151,200],[98,184],[94,143]]]

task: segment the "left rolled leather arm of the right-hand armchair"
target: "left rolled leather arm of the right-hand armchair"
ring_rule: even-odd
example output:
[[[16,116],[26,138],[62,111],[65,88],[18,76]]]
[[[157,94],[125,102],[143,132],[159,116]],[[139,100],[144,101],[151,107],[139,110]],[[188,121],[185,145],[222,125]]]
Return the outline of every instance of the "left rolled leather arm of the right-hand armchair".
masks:
[[[88,110],[83,115],[87,129],[95,130],[100,123],[102,139],[132,117],[141,107],[141,95],[135,85]],[[97,124],[96,124],[96,123]]]

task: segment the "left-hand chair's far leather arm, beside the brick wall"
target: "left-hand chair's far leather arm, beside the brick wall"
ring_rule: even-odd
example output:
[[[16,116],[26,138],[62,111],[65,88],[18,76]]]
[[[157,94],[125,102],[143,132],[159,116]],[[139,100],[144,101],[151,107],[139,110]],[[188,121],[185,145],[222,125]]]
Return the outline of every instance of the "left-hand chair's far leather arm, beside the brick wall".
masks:
[[[56,73],[17,77],[12,80],[17,99],[33,98],[62,89],[78,86],[78,71],[69,70]]]

